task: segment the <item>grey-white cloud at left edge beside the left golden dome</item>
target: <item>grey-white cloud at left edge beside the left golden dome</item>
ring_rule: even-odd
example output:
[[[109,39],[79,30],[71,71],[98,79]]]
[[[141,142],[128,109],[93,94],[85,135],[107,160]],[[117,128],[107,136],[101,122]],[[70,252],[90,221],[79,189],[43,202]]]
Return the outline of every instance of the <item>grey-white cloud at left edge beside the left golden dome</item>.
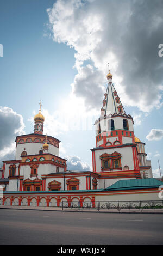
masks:
[[[0,161],[15,159],[15,138],[23,135],[23,117],[9,107],[0,106]]]

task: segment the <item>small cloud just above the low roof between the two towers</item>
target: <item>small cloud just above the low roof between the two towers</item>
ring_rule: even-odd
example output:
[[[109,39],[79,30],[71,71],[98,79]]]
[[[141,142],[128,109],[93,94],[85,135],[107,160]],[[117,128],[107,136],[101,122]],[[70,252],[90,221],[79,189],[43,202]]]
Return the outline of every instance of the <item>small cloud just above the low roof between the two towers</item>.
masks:
[[[67,159],[67,170],[91,170],[89,164],[82,162],[78,156],[65,156],[64,158]]]

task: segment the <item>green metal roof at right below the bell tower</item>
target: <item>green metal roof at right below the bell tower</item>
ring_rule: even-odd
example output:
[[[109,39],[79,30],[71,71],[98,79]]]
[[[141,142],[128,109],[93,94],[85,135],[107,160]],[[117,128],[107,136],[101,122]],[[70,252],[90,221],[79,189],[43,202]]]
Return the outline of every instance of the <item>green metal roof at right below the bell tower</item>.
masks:
[[[156,188],[160,185],[163,185],[163,182],[154,178],[119,180],[116,183],[112,184],[110,187],[105,188],[105,191]]]

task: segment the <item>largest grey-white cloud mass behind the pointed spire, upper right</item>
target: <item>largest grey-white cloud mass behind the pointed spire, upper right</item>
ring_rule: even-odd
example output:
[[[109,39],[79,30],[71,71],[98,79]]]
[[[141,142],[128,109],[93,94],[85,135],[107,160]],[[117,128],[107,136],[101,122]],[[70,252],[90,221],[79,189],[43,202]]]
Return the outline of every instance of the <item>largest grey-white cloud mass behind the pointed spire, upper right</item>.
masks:
[[[47,9],[53,40],[76,51],[73,93],[86,106],[101,106],[108,62],[122,103],[162,106],[162,8],[161,0],[57,0]]]

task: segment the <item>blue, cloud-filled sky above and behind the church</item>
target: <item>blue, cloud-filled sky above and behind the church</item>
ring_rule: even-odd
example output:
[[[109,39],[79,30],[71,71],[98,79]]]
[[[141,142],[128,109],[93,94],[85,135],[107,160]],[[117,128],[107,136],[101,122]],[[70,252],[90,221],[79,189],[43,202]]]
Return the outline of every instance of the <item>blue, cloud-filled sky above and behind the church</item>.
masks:
[[[43,133],[61,141],[68,169],[92,170],[109,63],[153,176],[158,160],[163,175],[162,27],[161,0],[1,0],[1,163],[16,136],[33,133],[41,100]]]

